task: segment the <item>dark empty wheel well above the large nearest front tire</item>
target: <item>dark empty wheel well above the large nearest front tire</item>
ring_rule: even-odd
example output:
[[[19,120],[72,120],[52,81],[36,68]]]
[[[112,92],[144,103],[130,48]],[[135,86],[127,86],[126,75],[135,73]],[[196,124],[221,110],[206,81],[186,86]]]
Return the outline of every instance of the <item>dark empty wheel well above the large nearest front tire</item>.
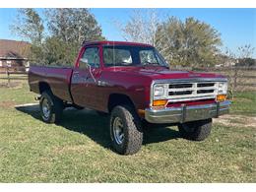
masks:
[[[129,105],[135,108],[135,105],[129,96],[122,95],[122,94],[110,95],[108,98],[108,104],[107,104],[108,112],[110,112],[117,105]]]

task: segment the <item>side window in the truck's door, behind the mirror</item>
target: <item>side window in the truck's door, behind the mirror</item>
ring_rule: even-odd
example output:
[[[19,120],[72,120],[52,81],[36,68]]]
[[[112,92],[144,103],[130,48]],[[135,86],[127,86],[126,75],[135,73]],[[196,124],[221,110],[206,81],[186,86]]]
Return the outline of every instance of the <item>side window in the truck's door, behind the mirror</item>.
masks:
[[[88,65],[94,68],[99,67],[99,56],[97,47],[86,48],[83,56],[79,61],[79,68],[81,69],[87,69]]]

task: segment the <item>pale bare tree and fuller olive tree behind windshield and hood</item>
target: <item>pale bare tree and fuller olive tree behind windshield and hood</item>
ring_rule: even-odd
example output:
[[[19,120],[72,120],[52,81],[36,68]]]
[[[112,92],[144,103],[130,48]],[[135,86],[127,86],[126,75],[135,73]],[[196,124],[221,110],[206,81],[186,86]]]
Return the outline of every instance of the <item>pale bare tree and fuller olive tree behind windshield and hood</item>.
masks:
[[[136,10],[126,25],[118,27],[126,40],[156,46],[171,65],[189,67],[216,64],[220,33],[210,25],[187,18],[185,22],[168,17],[160,20],[156,10]]]

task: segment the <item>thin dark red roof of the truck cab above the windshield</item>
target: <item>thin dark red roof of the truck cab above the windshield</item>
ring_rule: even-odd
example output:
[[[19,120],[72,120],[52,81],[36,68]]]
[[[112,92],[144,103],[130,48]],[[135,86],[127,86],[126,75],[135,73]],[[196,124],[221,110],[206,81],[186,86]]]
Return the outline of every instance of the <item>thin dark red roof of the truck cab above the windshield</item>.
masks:
[[[128,41],[113,41],[113,40],[96,40],[96,41],[84,41],[85,45],[133,45],[133,46],[152,46],[151,44],[140,42],[128,42]]]

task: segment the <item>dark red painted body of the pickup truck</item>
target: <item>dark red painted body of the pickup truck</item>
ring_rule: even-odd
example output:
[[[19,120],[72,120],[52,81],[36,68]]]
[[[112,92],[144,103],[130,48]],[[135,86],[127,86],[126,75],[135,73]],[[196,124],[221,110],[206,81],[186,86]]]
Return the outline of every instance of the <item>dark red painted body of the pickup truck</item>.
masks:
[[[36,67],[29,72],[31,91],[40,93],[40,85],[47,85],[54,96],[74,104],[108,112],[109,96],[113,94],[129,96],[137,109],[145,109],[150,103],[150,89],[153,80],[189,79],[191,75],[197,78],[224,78],[222,75],[210,73],[195,73],[186,71],[171,71],[165,67],[104,67],[102,45],[151,46],[142,43],[97,41],[85,43],[81,48],[74,67]],[[99,49],[100,67],[92,69],[96,81],[106,82],[107,86],[96,84],[89,70],[79,68],[79,61],[87,47],[97,46]],[[79,75],[75,75],[79,73]],[[206,103],[205,100],[190,104]],[[215,102],[215,100],[208,100]],[[177,104],[177,103],[176,103]],[[168,105],[172,106],[171,104]]]

